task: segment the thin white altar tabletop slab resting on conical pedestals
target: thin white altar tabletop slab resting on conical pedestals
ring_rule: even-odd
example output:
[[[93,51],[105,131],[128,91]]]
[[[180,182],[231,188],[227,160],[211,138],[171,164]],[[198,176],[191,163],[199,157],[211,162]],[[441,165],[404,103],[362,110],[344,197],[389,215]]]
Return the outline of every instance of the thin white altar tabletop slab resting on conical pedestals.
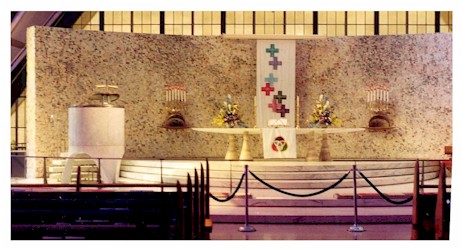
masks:
[[[223,134],[261,134],[264,128],[191,128],[195,131]],[[271,129],[271,128],[268,128]],[[279,129],[279,128],[272,128]],[[296,134],[315,133],[347,133],[365,131],[365,128],[293,128]]]

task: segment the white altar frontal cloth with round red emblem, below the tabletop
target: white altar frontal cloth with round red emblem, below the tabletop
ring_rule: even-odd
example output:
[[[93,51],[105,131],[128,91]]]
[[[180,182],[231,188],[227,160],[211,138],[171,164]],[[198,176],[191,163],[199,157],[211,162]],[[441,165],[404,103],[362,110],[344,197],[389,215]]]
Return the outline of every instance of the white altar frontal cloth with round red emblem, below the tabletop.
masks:
[[[263,128],[263,157],[297,158],[295,128]]]

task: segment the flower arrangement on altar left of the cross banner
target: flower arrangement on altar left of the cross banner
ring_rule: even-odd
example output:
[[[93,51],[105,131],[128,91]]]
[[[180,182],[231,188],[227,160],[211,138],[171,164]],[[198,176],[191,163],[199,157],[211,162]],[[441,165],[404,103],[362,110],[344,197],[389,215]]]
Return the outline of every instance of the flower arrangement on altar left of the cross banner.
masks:
[[[236,102],[228,94],[226,100],[222,104],[216,104],[219,109],[218,115],[213,118],[212,125],[218,127],[248,127],[242,120],[242,115],[239,115],[239,108]]]

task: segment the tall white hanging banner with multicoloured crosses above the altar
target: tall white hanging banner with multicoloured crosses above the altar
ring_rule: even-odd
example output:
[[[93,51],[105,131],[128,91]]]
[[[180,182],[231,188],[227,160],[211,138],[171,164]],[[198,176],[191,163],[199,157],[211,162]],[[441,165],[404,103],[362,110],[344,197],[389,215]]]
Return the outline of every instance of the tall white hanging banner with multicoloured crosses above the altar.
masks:
[[[257,41],[257,127],[295,127],[295,40]]]

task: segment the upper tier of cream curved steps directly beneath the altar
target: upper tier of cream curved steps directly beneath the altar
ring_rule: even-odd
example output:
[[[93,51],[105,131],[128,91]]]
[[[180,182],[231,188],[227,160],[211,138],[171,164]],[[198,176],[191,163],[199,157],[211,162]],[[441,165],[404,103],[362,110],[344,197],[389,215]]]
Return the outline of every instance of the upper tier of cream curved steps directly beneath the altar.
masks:
[[[339,181],[352,169],[354,161],[306,162],[306,161],[209,161],[211,192],[220,188],[235,188],[244,173],[245,164],[249,170],[266,183],[281,189],[324,189]],[[205,161],[147,161],[122,160],[119,181],[134,180],[146,183],[175,183],[179,180],[186,183],[188,173],[194,174],[194,169],[205,168]],[[381,161],[356,162],[360,170],[376,186],[412,183],[414,161]],[[424,179],[438,177],[439,162],[425,162]],[[357,174],[357,186],[366,187],[369,184]],[[337,188],[351,188],[353,173]],[[267,189],[249,174],[250,189]]]

